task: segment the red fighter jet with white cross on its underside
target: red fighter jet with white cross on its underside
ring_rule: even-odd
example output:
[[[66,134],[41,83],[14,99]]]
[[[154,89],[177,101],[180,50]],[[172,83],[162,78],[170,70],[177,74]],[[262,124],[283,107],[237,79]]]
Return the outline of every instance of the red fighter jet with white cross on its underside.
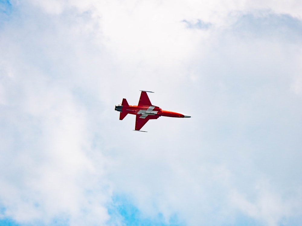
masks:
[[[146,124],[149,119],[157,119],[160,116],[175,117],[175,118],[190,118],[191,116],[173,112],[164,111],[159,107],[153,106],[149,100],[146,92],[154,93],[150,91],[140,90],[140,101],[137,106],[131,106],[126,99],[123,99],[121,105],[115,105],[115,110],[120,111],[120,120],[123,120],[127,114],[136,115],[135,131],[141,131],[140,129]],[[146,131],[141,131],[146,132]]]

